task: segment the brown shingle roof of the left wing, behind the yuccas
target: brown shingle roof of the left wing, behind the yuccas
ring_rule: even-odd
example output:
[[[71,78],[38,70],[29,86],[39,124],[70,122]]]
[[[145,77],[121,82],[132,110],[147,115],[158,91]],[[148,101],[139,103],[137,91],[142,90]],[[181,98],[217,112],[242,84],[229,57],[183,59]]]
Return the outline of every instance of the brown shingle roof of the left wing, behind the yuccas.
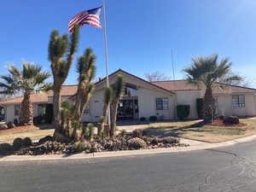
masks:
[[[77,85],[63,85],[61,87],[61,96],[73,96],[78,89]],[[53,96],[53,91],[49,90],[47,92],[33,93],[31,95],[32,102],[48,102],[48,97]],[[6,101],[1,102],[1,104],[9,104],[9,103],[20,103],[23,100],[23,96],[16,96],[14,98],[10,98]]]

